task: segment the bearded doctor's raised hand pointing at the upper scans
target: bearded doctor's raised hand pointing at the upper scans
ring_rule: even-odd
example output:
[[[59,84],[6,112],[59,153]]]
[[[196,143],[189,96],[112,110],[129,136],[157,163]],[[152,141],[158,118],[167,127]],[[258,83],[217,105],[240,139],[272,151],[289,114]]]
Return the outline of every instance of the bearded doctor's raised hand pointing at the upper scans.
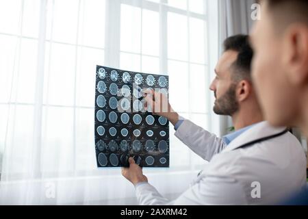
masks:
[[[143,92],[144,100],[146,101],[146,109],[150,106],[153,114],[166,117],[173,125],[177,123],[179,114],[172,109],[167,96],[149,89]]]

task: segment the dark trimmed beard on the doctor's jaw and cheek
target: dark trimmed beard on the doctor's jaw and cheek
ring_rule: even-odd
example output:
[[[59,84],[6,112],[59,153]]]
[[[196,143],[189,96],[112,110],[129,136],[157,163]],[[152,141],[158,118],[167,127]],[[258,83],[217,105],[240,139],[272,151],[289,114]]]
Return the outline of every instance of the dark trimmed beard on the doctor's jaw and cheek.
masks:
[[[238,101],[236,101],[235,90],[236,84],[232,83],[228,90],[219,99],[216,99],[213,107],[216,114],[232,116],[238,111],[239,105]]]

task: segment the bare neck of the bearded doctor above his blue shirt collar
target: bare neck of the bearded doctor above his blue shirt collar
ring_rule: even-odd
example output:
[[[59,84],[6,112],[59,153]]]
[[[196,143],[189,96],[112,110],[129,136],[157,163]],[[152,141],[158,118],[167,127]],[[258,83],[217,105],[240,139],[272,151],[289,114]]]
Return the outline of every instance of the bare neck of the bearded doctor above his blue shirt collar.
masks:
[[[258,110],[257,112],[246,111],[245,113],[240,110],[238,113],[233,114],[231,118],[235,130],[242,129],[264,120],[261,112]]]

